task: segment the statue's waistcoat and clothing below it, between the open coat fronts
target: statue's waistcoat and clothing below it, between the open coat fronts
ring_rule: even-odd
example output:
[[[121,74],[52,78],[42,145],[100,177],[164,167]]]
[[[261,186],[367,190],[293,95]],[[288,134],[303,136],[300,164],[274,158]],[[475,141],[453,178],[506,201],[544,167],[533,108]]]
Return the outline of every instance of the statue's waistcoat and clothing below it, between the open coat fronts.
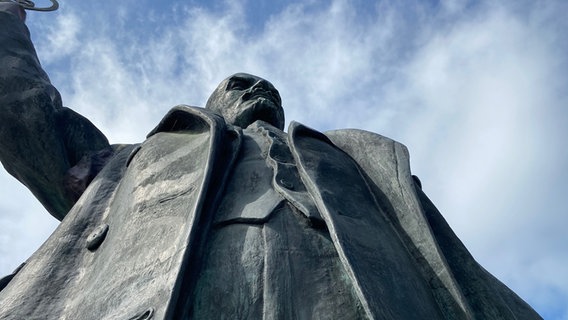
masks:
[[[327,229],[314,226],[298,209],[302,206],[293,204],[302,202],[305,208],[313,203],[278,191],[284,186],[309,198],[299,176],[290,172],[293,160],[283,148],[288,148],[285,136],[275,130],[253,125],[243,131],[188,316],[363,318]],[[270,156],[275,141],[277,160]],[[278,160],[290,165],[284,176],[278,174]]]

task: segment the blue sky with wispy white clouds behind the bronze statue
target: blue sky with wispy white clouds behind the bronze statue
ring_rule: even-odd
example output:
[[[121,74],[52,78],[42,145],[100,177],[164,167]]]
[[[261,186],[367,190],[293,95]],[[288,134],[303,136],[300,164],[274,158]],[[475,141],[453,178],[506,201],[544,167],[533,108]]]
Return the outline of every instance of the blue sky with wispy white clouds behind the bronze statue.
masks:
[[[62,0],[28,25],[64,104],[112,143],[143,141],[238,71],[271,80],[288,121],[404,143],[476,259],[567,320],[567,12],[562,0]],[[3,171],[0,186],[8,274],[57,222]]]

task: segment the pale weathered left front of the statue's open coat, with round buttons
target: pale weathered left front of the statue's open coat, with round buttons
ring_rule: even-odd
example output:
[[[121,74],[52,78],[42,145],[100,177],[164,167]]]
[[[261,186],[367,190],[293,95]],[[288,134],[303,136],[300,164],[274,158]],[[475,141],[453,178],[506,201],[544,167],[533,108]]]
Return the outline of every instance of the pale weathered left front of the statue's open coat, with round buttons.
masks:
[[[172,318],[238,144],[219,116],[174,108],[91,183],[2,290],[1,309],[26,319]],[[89,247],[105,226],[100,245]]]

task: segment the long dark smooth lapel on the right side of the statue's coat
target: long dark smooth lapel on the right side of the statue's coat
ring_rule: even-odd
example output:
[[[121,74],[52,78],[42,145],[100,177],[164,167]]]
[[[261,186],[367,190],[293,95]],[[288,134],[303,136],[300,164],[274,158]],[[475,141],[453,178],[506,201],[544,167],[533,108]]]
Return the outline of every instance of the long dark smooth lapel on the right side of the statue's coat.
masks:
[[[294,122],[288,131],[300,176],[369,318],[441,318],[427,282],[355,161],[319,132]]]

